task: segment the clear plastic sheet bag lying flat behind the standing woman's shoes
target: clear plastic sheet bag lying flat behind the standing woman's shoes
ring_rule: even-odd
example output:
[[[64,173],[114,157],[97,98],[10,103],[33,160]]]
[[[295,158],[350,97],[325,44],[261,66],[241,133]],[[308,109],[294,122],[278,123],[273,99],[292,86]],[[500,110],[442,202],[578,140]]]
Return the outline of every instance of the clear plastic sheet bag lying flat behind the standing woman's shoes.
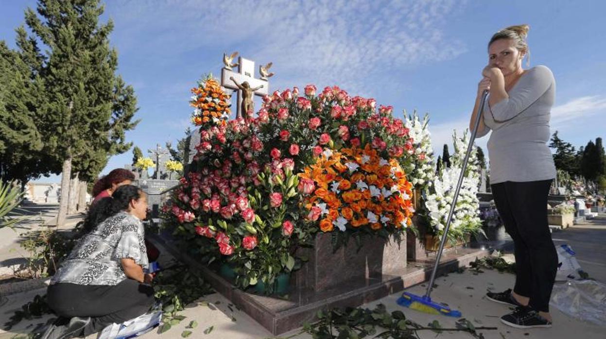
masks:
[[[582,321],[606,326],[606,285],[595,280],[568,280],[556,283],[551,306]]]

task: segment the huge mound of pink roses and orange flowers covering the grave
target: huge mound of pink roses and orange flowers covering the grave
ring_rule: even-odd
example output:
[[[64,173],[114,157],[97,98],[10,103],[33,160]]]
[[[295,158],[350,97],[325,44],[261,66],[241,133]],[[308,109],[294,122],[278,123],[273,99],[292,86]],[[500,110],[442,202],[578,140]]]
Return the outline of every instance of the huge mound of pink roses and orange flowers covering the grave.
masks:
[[[163,206],[165,225],[207,262],[230,264],[241,288],[299,268],[297,249],[319,232],[398,237],[413,213],[404,169],[417,154],[392,112],[308,85],[265,96],[256,117],[202,119],[198,173]]]

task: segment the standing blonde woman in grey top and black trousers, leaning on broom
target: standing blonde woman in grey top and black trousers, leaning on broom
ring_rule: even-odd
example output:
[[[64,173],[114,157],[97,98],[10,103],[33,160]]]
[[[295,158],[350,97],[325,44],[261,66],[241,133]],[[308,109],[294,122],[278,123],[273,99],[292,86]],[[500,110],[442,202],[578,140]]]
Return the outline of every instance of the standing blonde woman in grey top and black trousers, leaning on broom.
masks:
[[[549,120],[556,94],[545,66],[527,70],[528,25],[504,28],[488,42],[488,65],[482,70],[473,128],[482,92],[490,91],[478,137],[489,131],[488,156],[494,203],[514,242],[516,283],[513,291],[489,292],[487,298],[516,306],[501,321],[518,328],[551,327],[549,300],[558,270],[558,254],[547,223],[547,195],[556,176]]]

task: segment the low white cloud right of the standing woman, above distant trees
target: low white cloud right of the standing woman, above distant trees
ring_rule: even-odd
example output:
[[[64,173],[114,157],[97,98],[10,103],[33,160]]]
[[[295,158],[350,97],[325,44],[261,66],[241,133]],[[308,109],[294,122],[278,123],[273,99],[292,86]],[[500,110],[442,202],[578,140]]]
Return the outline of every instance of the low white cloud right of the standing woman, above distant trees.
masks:
[[[590,116],[606,111],[606,96],[582,96],[556,106],[551,110],[551,128],[562,129],[570,127],[571,123],[587,123]]]

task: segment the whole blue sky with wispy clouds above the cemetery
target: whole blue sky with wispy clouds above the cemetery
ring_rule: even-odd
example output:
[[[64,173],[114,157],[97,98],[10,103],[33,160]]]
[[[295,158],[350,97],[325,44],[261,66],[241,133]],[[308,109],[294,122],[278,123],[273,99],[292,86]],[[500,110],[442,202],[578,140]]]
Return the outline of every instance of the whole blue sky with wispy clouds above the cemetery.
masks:
[[[36,2],[0,0],[0,39]],[[135,87],[141,120],[127,134],[143,150],[183,136],[189,89],[219,74],[224,52],[273,62],[270,90],[339,85],[379,104],[430,113],[436,151],[466,127],[487,42],[530,25],[531,66],[556,77],[551,128],[575,146],[606,137],[603,1],[106,1],[119,73]],[[257,104],[258,108],[259,105]],[[487,137],[478,140],[484,146]],[[114,156],[104,173],[130,163]],[[41,181],[58,181],[58,177]]]

